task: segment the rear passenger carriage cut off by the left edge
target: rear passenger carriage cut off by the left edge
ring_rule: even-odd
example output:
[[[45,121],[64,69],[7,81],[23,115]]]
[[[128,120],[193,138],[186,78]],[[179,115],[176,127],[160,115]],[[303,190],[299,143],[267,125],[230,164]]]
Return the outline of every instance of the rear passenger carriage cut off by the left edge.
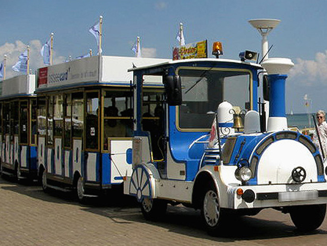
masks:
[[[1,173],[37,178],[35,75],[2,81],[0,97]]]

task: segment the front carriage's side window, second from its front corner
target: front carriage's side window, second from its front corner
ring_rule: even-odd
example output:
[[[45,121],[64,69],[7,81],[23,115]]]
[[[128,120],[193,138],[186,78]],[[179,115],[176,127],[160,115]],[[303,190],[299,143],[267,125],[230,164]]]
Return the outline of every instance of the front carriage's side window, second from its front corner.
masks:
[[[83,93],[72,95],[73,137],[83,137],[84,107]]]

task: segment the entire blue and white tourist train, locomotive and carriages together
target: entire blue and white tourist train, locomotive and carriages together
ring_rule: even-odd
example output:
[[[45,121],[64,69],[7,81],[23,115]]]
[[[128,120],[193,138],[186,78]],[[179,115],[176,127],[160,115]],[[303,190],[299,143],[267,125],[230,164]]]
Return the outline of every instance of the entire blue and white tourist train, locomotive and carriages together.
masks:
[[[33,92],[29,76],[11,96],[3,81],[2,172],[37,175],[43,190],[74,189],[81,201],[123,183],[145,218],[181,203],[201,210],[209,233],[265,208],[318,228],[327,169],[311,139],[288,129],[294,64],[251,62],[250,51],[222,59],[219,43],[207,58],[207,43],[197,45],[201,55],[174,49],[175,60],[92,56],[40,68]]]

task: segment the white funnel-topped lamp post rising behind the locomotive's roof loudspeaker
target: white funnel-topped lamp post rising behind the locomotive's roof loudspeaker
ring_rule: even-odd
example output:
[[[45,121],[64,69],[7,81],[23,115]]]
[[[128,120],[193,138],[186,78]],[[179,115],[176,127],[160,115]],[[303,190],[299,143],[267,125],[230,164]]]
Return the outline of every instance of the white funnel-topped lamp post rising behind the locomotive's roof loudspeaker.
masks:
[[[280,23],[280,19],[250,19],[249,23],[258,30],[262,36],[263,60],[268,59],[268,34]]]

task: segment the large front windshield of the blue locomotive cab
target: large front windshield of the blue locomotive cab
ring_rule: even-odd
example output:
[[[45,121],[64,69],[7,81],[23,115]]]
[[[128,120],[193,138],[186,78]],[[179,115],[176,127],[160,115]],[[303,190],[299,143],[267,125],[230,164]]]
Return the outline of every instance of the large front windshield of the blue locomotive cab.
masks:
[[[208,68],[180,69],[183,103],[179,106],[179,128],[210,129],[213,116],[223,101],[238,111],[250,109],[250,72]]]

